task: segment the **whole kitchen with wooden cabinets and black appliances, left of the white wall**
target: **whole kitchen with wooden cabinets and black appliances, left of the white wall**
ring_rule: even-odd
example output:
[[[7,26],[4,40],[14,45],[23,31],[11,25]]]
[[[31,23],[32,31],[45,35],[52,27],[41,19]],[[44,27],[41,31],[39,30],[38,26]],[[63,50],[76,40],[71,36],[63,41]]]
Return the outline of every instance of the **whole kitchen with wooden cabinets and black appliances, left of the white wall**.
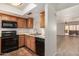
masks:
[[[44,4],[3,3],[0,9],[0,55],[44,56]]]

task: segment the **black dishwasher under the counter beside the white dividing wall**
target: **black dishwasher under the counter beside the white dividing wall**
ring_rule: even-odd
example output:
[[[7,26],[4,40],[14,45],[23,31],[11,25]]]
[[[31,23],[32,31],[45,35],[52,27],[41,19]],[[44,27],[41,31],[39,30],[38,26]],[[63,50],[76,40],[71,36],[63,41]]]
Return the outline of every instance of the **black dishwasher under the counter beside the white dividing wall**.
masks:
[[[36,54],[39,56],[45,55],[45,39],[36,37]]]

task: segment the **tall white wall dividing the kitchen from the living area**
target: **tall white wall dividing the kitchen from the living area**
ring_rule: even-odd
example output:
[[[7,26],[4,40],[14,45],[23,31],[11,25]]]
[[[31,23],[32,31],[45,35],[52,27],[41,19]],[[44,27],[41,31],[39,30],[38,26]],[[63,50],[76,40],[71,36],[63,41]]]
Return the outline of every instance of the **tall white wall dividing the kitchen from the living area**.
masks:
[[[52,56],[56,54],[57,49],[56,10],[53,4],[48,4],[45,7],[46,7],[45,55]]]

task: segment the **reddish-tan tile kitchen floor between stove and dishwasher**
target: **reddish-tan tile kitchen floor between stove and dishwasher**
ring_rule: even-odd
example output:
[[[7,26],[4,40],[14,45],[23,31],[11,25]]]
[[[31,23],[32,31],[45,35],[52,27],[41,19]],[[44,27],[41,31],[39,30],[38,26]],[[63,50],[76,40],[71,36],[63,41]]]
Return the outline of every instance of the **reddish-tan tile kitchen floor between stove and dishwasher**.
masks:
[[[36,56],[36,54],[23,47],[10,53],[4,53],[2,56]]]

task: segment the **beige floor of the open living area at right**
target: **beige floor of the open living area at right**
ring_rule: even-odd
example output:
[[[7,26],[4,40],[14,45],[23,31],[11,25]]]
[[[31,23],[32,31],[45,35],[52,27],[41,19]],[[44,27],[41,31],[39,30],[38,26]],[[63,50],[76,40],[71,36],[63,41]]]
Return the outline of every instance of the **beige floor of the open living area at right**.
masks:
[[[79,36],[57,36],[57,56],[79,56]]]

